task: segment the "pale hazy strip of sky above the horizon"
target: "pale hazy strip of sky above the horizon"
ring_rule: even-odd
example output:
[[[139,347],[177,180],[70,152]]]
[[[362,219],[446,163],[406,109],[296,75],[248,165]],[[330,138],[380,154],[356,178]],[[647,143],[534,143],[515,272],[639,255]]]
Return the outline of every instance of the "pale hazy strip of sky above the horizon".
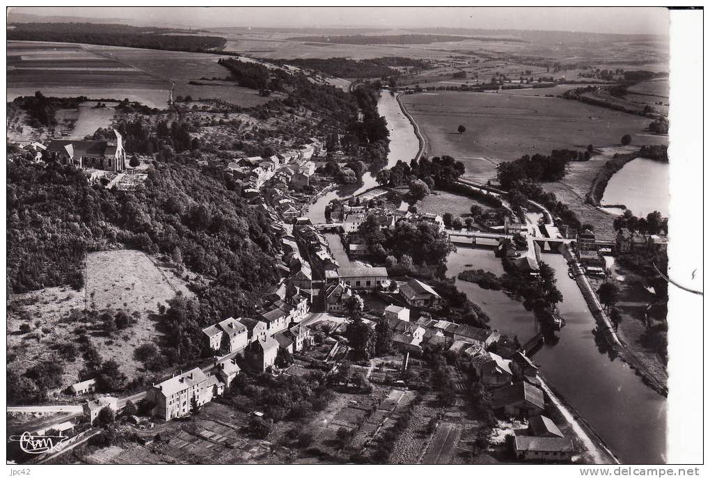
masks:
[[[214,28],[370,27],[665,33],[662,7],[19,7],[21,13],[121,19],[138,25]],[[12,18],[12,14],[10,14]]]

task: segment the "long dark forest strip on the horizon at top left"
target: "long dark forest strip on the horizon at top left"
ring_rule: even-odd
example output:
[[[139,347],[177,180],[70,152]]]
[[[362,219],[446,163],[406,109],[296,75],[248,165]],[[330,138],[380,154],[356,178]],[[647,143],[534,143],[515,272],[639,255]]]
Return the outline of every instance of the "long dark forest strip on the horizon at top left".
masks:
[[[14,23],[13,28],[7,30],[7,39],[187,52],[203,52],[226,45],[222,37],[164,34],[171,31],[102,23]]]

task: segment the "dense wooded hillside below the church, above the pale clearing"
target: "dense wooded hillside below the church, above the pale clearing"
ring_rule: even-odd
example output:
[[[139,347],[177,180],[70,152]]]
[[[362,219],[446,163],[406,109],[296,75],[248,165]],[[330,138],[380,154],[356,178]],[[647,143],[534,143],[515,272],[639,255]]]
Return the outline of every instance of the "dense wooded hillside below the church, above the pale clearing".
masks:
[[[145,188],[125,192],[92,187],[72,167],[15,162],[7,200],[14,292],[81,287],[83,253],[118,244],[179,257],[192,272],[246,290],[275,279],[266,216],[191,167],[159,164]]]

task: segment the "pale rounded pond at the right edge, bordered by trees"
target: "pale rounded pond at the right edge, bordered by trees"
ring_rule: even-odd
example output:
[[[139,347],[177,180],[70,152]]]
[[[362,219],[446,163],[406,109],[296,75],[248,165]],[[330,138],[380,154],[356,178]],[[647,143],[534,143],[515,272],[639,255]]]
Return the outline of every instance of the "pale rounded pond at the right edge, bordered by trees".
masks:
[[[668,217],[669,165],[667,162],[637,157],[627,162],[609,179],[601,205],[623,204],[635,216],[645,217],[658,211]],[[612,213],[623,213],[619,208],[605,208]]]

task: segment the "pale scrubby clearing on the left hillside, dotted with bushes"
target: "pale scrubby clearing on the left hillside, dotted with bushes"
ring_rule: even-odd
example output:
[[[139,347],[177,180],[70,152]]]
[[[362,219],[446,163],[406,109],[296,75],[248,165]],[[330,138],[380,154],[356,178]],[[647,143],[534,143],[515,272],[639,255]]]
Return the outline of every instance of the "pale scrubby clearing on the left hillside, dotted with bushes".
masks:
[[[169,281],[169,282],[168,282]],[[16,357],[13,367],[23,372],[31,365],[51,360],[53,345],[76,343],[77,326],[87,330],[103,360],[114,359],[127,377],[136,377],[142,367],[133,358],[133,349],[158,338],[151,313],[157,304],[175,296],[175,291],[191,294],[185,282],[170,271],[153,265],[143,252],[114,250],[87,255],[86,288],[75,291],[69,287],[51,287],[26,294],[15,294],[11,304],[21,313],[9,314],[7,322],[8,353]],[[103,311],[124,309],[138,312],[137,322],[126,330],[108,335],[102,323],[84,323],[70,316],[73,310],[85,307]],[[18,333],[21,324],[31,326],[29,333]],[[62,357],[67,358],[67,357]],[[81,357],[65,363],[63,387],[77,382]]]

